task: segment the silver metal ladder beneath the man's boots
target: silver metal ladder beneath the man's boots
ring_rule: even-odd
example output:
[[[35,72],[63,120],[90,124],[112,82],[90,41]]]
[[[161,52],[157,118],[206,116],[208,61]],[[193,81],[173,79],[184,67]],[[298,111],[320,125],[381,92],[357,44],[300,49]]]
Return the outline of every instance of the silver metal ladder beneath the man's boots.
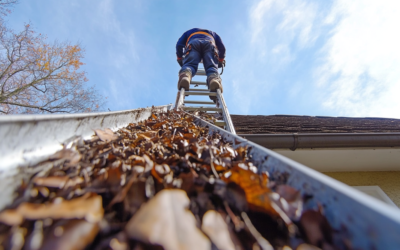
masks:
[[[206,72],[204,69],[198,69],[197,76],[206,76]],[[197,86],[206,86],[205,89],[197,89]],[[216,103],[213,101],[192,101],[185,100],[185,96],[201,96],[201,97],[209,97],[215,96],[217,98]],[[209,100],[209,98],[207,99]],[[186,104],[197,104],[197,105],[206,105],[206,106],[186,106]],[[178,91],[176,102],[175,102],[175,110],[183,109],[184,111],[204,111],[207,113],[216,113],[222,114],[222,120],[217,120],[215,122],[216,126],[225,128],[225,130],[231,132],[232,134],[236,134],[235,128],[233,127],[233,123],[231,120],[231,116],[229,114],[228,108],[225,104],[224,97],[222,96],[221,90],[217,89],[217,92],[211,92],[207,88],[207,82],[204,81],[191,81],[189,91],[185,91],[184,88],[181,88]]]

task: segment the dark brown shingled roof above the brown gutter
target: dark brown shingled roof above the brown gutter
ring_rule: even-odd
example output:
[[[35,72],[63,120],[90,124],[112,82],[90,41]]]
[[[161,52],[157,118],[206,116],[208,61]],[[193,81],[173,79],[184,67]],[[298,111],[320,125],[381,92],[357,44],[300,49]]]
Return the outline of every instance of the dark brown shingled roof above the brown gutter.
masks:
[[[400,119],[296,115],[231,115],[237,134],[400,132]]]

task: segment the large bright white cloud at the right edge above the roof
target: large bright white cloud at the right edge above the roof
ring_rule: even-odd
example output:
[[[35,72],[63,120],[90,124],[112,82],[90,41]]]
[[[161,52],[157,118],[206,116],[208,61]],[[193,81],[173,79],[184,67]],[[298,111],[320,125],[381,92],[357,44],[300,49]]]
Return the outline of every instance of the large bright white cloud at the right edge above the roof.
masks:
[[[398,0],[335,2],[326,19],[335,26],[315,70],[325,108],[400,118],[399,13]]]

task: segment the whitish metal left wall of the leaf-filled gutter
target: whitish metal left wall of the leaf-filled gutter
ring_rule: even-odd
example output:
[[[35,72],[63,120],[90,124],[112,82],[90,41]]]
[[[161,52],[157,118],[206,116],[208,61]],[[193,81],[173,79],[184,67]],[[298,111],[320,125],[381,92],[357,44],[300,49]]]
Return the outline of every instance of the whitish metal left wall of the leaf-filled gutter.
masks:
[[[0,176],[8,169],[36,164],[73,136],[87,139],[94,134],[93,129],[116,130],[171,107],[172,104],[101,113],[0,116]]]

